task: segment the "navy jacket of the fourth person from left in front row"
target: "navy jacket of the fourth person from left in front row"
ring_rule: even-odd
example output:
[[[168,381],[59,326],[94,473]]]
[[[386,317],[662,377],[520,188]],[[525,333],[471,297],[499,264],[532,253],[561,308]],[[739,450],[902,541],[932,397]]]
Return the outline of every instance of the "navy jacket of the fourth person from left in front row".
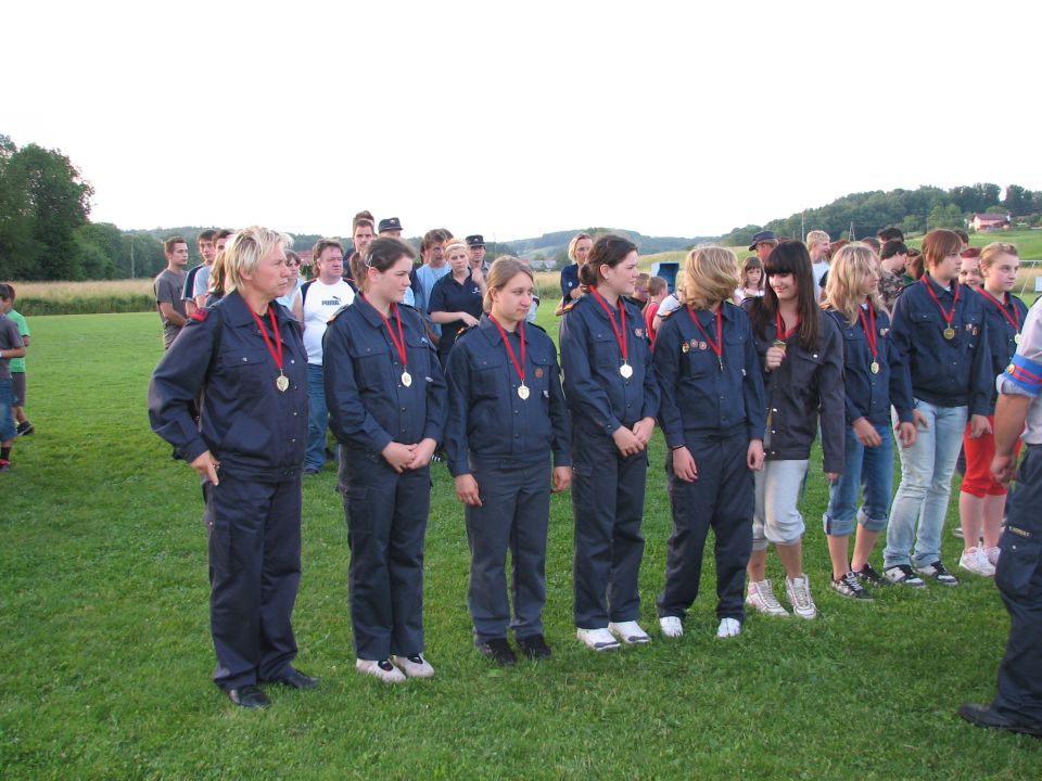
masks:
[[[608,312],[593,294],[577,299],[561,320],[561,371],[572,426],[594,428],[605,436],[659,413],[659,383],[644,318],[633,304],[620,300],[626,312],[630,379],[619,373],[622,351]],[[618,308],[613,315],[618,324]]]

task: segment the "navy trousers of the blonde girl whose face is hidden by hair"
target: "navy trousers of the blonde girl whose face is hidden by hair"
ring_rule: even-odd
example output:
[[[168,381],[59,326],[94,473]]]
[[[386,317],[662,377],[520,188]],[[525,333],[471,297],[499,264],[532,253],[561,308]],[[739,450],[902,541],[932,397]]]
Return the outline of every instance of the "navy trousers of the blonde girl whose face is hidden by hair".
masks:
[[[715,537],[716,616],[744,622],[746,565],[752,552],[754,490],[746,464],[749,437],[688,438],[698,479],[679,479],[665,457],[666,487],[673,511],[659,616],[683,618],[698,597],[702,553],[710,527]]]

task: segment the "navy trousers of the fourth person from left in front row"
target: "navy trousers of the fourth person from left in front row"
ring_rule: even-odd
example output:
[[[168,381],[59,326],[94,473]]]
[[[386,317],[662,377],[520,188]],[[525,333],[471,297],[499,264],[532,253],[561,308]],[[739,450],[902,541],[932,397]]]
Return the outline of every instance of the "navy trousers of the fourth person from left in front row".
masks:
[[[637,576],[644,558],[647,452],[623,458],[610,436],[574,421],[575,626],[600,629],[640,615]]]

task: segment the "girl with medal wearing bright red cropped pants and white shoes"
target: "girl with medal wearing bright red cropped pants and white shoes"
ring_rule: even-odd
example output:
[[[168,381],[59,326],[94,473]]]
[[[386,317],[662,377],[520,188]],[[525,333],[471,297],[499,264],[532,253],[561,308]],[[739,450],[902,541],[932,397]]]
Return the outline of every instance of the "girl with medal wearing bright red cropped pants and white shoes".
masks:
[[[980,253],[980,270],[984,284],[978,294],[984,299],[984,321],[991,351],[991,374],[1006,371],[1017,351],[1020,330],[1028,308],[1012,291],[1020,269],[1015,244],[993,242]],[[988,422],[994,425],[997,394],[991,387],[988,399]],[[1019,454],[1020,440],[1017,440]],[[1006,511],[1006,487],[991,474],[995,439],[987,432],[976,439],[967,427],[963,434],[966,475],[958,495],[958,514],[963,525],[964,550],[958,566],[976,575],[991,577],[999,561],[999,535]],[[983,537],[983,545],[979,545]]]

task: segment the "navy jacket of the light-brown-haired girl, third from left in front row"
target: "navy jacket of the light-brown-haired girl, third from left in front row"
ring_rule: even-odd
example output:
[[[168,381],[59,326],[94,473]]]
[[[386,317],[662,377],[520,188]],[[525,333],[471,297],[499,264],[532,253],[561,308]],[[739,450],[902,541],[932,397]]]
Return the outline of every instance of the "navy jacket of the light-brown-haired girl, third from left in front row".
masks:
[[[456,338],[445,367],[445,449],[454,477],[472,469],[538,464],[551,452],[557,466],[571,463],[572,432],[557,348],[538,325],[523,325],[523,330],[526,399],[518,396],[521,379],[487,315]],[[507,332],[507,338],[520,363],[518,330]]]

